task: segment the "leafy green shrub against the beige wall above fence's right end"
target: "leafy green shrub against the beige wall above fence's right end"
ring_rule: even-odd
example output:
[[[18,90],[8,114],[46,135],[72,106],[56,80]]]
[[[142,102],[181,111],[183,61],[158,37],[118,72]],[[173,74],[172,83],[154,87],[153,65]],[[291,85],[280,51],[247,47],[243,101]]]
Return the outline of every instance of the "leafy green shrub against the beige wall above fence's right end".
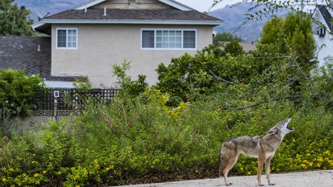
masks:
[[[132,81],[131,77],[126,75],[126,71],[130,70],[131,62],[127,62],[126,59],[121,65],[114,64],[113,76],[117,77],[117,84],[121,86],[122,94],[136,96],[146,91],[148,83],[146,83],[146,76],[139,75],[138,80]]]

